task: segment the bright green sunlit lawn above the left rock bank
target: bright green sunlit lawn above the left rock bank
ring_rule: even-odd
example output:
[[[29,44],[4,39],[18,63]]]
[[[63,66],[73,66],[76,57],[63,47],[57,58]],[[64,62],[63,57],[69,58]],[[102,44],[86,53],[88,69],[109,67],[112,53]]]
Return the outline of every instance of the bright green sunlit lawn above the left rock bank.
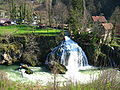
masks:
[[[41,35],[57,35],[60,33],[60,30],[45,28],[45,29],[36,29],[35,26],[26,26],[26,25],[11,25],[11,26],[0,26],[0,35],[21,35],[21,34],[41,34]]]

